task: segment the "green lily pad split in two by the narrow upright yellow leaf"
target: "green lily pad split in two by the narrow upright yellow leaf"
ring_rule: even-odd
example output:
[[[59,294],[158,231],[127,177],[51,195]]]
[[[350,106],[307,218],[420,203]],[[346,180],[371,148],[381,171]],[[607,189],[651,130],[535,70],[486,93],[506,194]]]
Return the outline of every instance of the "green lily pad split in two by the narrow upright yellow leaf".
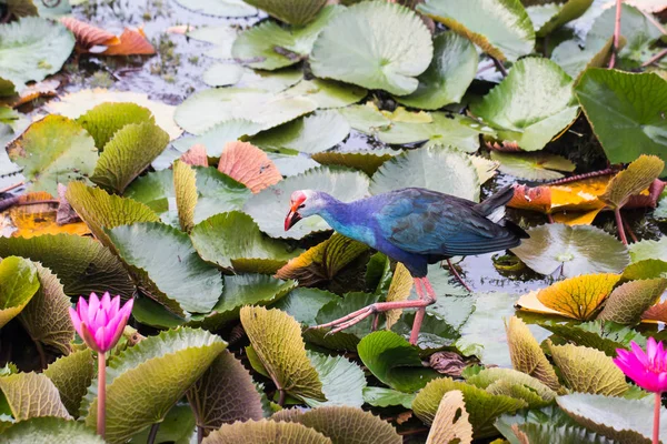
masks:
[[[192,167],[197,180],[195,223],[227,211],[242,209],[251,195],[246,185],[210,167]],[[137,179],[125,195],[141,202],[160,215],[162,222],[178,226],[172,170],[151,172]]]

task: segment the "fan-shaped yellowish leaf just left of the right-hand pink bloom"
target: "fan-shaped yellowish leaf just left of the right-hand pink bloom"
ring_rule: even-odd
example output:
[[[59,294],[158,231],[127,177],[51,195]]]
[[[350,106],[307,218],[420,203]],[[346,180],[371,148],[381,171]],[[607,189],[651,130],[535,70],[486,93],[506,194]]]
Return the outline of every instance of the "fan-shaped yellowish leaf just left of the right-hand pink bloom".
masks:
[[[628,390],[625,375],[604,352],[550,341],[549,349],[565,383],[575,392],[618,396]]]

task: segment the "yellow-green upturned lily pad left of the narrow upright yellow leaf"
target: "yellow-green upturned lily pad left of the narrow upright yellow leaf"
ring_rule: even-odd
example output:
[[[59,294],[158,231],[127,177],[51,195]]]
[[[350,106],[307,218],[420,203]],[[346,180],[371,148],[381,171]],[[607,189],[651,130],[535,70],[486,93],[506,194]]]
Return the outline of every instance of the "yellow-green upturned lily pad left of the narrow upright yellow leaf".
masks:
[[[104,190],[90,188],[81,182],[70,182],[64,196],[92,234],[113,252],[113,244],[104,229],[159,220],[156,213],[140,202],[110,195]]]

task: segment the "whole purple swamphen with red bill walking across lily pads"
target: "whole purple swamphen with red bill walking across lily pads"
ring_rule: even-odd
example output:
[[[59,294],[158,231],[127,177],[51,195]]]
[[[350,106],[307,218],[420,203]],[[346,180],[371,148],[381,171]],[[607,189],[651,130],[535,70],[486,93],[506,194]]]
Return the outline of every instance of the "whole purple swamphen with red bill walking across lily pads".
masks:
[[[285,218],[286,231],[301,219],[317,214],[338,233],[401,262],[412,275],[419,296],[415,301],[378,302],[317,327],[334,327],[331,332],[339,332],[371,314],[376,315],[377,323],[380,312],[417,309],[410,333],[410,343],[415,344],[426,307],[436,301],[426,276],[429,263],[447,260],[465,285],[451,266],[450,258],[511,249],[528,238],[522,229],[505,219],[505,204],[512,194],[514,189],[506,186],[476,203],[407,188],[345,203],[321,191],[295,191]]]

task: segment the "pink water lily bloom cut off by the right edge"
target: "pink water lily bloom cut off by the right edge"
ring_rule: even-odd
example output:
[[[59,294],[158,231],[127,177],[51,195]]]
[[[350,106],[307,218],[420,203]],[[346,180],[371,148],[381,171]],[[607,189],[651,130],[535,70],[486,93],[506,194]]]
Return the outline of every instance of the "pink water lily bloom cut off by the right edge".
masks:
[[[616,350],[614,363],[641,389],[654,393],[667,392],[667,352],[663,342],[656,343],[649,337],[646,353],[636,342],[630,345],[633,351]]]

